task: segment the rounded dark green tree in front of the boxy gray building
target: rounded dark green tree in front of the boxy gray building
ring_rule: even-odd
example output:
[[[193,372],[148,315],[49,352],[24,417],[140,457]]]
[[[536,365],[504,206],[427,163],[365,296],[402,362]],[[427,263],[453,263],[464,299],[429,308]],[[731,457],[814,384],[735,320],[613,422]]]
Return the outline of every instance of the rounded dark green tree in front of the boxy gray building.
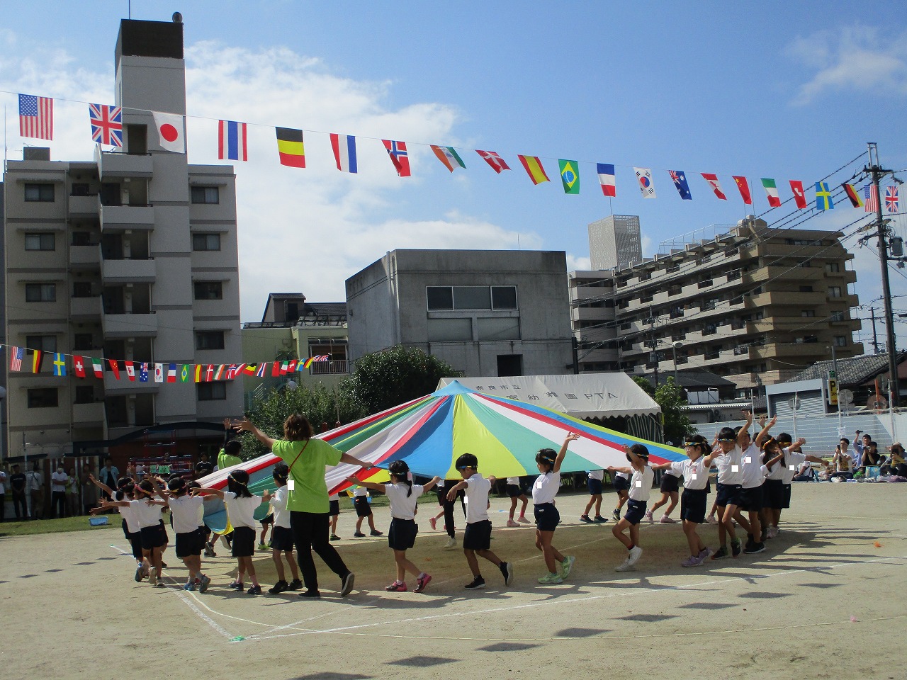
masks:
[[[340,384],[356,417],[433,393],[441,378],[456,378],[453,366],[421,349],[395,345],[356,359],[353,373]]]

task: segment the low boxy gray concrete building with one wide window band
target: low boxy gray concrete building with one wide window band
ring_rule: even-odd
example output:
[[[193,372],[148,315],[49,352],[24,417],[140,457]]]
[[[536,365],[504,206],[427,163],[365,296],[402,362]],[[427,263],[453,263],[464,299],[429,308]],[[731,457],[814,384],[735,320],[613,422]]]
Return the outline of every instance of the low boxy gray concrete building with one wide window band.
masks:
[[[572,373],[563,251],[394,250],[346,279],[349,358],[419,347],[464,376]]]

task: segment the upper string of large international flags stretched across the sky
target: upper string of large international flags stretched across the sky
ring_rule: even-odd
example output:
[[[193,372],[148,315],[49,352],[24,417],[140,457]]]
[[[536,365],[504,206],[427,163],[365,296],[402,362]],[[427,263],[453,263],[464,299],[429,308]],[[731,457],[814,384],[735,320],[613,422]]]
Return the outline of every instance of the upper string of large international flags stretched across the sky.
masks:
[[[112,147],[122,147],[122,107],[107,104],[88,105],[91,123],[92,139],[98,144]],[[161,147],[176,153],[186,152],[186,117],[176,113],[150,112],[154,117],[155,126]],[[253,123],[254,124],[254,123]],[[249,145],[247,131],[249,123],[238,121],[218,121],[218,158],[219,160],[249,160]],[[278,146],[278,160],[281,165],[290,168],[306,167],[306,150],[302,130],[295,128],[275,128]],[[50,97],[37,97],[31,94],[19,94],[19,134],[22,137],[34,137],[43,140],[54,139],[54,100]],[[337,170],[343,172],[358,172],[356,162],[356,137],[353,135],[329,134],[331,149],[334,152]],[[385,151],[400,177],[411,177],[412,171],[409,163],[409,153],[405,141],[382,140]],[[428,145],[434,155],[440,160],[447,170],[453,172],[460,168],[465,169],[463,157],[452,146],[437,144]],[[503,170],[511,170],[507,161],[495,151],[474,150],[494,170],[500,174]],[[538,185],[551,181],[544,169],[541,158],[538,156],[517,155],[523,170],[529,175],[532,184]],[[617,197],[617,178],[615,165],[612,163],[596,163],[601,192],[609,198]],[[564,193],[580,193],[580,162],[578,160],[559,159],[558,169],[561,173],[561,184]],[[636,183],[644,199],[655,199],[656,190],[650,168],[633,168]],[[706,180],[709,189],[717,199],[727,200],[727,194],[722,188],[720,180],[715,173],[700,172]],[[680,199],[692,200],[693,194],[689,188],[687,174],[683,170],[668,170],[668,175],[674,187],[678,190]],[[753,205],[753,194],[750,190],[749,180],[743,175],[732,175],[740,198],[746,205]],[[772,208],[781,206],[781,196],[778,186],[772,178],[761,178],[762,187],[766,191],[768,205]],[[797,209],[806,209],[810,201],[806,199],[803,181],[788,180],[791,192],[794,195]],[[807,184],[807,186],[809,186]],[[858,188],[853,184],[843,183],[841,188],[853,208],[863,208],[866,212],[876,211],[878,198],[876,189],[872,184]],[[862,189],[862,190],[861,190]],[[829,182],[815,182],[815,208],[818,210],[834,209],[834,199]],[[835,191],[837,189],[834,189]],[[884,189],[884,209],[889,214],[898,212],[898,187],[892,185]]]

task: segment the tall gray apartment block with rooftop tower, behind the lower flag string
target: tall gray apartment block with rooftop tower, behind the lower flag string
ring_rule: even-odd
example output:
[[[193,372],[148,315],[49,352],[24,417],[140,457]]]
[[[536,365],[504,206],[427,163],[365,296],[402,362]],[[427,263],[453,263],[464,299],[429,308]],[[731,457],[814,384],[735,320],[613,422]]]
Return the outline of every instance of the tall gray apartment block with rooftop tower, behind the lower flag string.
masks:
[[[236,191],[230,166],[164,151],[152,111],[185,114],[182,24],[122,21],[115,102],[123,146],[93,160],[25,149],[5,172],[8,345],[120,361],[239,362]],[[26,357],[26,363],[30,358]],[[156,423],[217,423],[241,384],[10,372],[7,451],[114,439]],[[91,367],[89,364],[89,375]]]

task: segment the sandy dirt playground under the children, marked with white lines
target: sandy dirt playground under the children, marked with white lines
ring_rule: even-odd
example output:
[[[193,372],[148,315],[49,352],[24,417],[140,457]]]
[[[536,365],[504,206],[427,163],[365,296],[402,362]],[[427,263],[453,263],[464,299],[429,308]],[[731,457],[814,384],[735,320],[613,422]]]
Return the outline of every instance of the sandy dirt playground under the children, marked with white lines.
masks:
[[[422,533],[409,555],[434,576],[421,595],[385,593],[386,541],[350,538],[356,518],[345,508],[336,545],[356,589],[338,597],[339,579],[316,559],[316,601],[228,590],[235,560],[222,546],[206,560],[214,582],[205,594],[178,587],[185,570],[172,549],[171,587],[135,583],[118,522],[2,539],[0,676],[903,678],[905,493],[898,484],[795,484],[766,552],[701,568],[679,567],[679,525],[644,524],[644,553],[628,573],[613,569],[624,551],[610,522],[580,524],[588,497],[561,496],[554,544],[577,560],[560,586],[537,583],[544,568],[534,531],[505,528],[509,500],[495,499],[492,548],[512,560],[516,578],[505,588],[484,563],[488,587],[479,591],[463,589],[462,551],[443,549],[446,537],[424,516],[434,506],[420,506]],[[606,494],[606,515],[613,499]],[[376,515],[381,529],[385,512]],[[714,548],[717,529],[701,534]],[[258,554],[270,585],[273,564]]]

